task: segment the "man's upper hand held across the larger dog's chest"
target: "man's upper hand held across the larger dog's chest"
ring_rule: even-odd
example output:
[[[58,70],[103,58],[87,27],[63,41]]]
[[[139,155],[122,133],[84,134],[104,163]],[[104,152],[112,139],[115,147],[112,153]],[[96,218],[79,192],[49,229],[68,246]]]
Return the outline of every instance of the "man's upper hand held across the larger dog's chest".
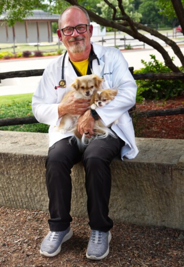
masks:
[[[82,115],[90,106],[90,100],[76,99],[74,94],[70,95],[63,103],[58,106],[59,118],[65,114]]]

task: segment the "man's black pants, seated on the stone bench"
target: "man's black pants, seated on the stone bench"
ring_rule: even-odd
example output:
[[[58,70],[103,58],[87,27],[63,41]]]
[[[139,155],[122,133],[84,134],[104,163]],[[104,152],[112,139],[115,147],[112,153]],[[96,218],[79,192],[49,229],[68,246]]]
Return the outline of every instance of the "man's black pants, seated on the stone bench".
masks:
[[[48,220],[50,231],[64,231],[70,225],[72,182],[71,168],[82,160],[85,168],[85,186],[89,225],[92,230],[103,232],[113,227],[108,217],[111,190],[110,163],[120,153],[124,141],[108,136],[90,143],[84,153],[77,144],[69,145],[68,138],[55,143],[48,150],[46,159],[46,186],[49,197]]]

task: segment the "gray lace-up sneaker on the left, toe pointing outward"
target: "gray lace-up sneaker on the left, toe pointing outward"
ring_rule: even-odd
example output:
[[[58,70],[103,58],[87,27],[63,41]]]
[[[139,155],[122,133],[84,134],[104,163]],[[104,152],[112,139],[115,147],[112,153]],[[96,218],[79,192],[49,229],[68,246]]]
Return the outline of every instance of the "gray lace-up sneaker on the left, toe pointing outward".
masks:
[[[42,241],[40,253],[47,257],[54,257],[61,251],[61,244],[73,235],[72,229],[68,227],[62,232],[49,232]]]

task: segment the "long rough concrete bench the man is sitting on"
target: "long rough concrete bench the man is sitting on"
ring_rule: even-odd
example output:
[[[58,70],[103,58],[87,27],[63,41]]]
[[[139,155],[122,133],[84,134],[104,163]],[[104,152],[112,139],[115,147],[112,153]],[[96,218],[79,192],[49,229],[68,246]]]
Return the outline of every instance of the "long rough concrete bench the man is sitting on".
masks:
[[[184,230],[184,140],[136,138],[139,154],[111,164],[109,216]],[[48,211],[48,135],[0,131],[0,206]],[[74,217],[86,217],[85,173],[72,169]]]

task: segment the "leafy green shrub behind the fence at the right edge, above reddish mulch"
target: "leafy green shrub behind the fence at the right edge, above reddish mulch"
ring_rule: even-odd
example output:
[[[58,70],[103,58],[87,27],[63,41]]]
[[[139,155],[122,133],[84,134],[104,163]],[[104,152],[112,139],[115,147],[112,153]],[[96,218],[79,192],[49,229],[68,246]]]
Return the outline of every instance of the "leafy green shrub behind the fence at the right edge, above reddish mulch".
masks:
[[[165,66],[162,62],[156,60],[155,55],[150,55],[152,61],[148,63],[141,60],[145,67],[134,73],[168,73],[171,72],[169,67]],[[180,67],[184,71],[183,67]],[[182,95],[184,92],[184,83],[181,80],[137,80],[138,92],[137,101],[143,99],[167,100],[169,98]]]

